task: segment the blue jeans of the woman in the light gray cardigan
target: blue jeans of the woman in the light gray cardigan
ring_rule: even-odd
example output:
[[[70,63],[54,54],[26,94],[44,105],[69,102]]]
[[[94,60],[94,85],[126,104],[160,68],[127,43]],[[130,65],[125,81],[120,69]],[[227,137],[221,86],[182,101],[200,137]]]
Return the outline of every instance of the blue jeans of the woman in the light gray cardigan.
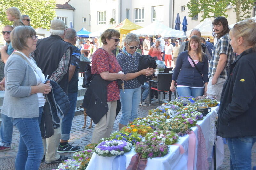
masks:
[[[43,107],[39,107],[39,117],[14,118],[13,125],[20,132],[19,149],[16,156],[16,170],[38,170],[44,154],[40,123]]]

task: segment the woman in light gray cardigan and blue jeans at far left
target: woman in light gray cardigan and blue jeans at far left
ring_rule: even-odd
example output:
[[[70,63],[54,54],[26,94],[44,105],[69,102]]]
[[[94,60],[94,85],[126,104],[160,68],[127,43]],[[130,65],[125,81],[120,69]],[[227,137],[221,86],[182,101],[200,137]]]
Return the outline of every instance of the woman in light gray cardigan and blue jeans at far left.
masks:
[[[49,82],[44,84],[44,74],[29,57],[36,50],[37,40],[32,27],[15,27],[11,41],[17,51],[8,58],[4,69],[6,85],[1,113],[20,132],[16,170],[38,170],[44,153],[39,124],[45,103],[43,94],[48,94],[52,87]]]

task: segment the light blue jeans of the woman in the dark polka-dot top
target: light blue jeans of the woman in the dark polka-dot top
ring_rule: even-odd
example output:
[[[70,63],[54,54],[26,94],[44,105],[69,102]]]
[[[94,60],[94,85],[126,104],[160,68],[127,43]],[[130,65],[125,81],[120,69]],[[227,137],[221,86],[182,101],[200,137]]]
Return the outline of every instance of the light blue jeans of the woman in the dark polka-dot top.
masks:
[[[120,89],[120,101],[122,115],[119,120],[120,124],[127,125],[128,121],[133,121],[138,117],[138,109],[141,96],[141,86],[135,89]]]

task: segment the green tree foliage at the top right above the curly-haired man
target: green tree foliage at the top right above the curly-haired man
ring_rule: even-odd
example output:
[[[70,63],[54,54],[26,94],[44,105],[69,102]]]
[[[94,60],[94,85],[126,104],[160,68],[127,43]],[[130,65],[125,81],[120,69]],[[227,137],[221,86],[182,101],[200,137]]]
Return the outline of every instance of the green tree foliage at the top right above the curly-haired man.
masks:
[[[255,0],[190,0],[187,4],[189,17],[203,12],[202,20],[205,18],[224,16],[227,17],[227,6],[231,3],[236,12],[236,22],[251,17],[251,10]]]

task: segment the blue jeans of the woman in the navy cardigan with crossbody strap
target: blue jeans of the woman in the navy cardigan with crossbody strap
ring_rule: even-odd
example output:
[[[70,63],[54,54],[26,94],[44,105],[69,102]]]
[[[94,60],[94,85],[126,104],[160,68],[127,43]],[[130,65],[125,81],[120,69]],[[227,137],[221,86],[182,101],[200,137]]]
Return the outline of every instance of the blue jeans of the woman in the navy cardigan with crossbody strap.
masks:
[[[179,96],[202,96],[204,88],[192,88],[192,87],[177,87]]]

